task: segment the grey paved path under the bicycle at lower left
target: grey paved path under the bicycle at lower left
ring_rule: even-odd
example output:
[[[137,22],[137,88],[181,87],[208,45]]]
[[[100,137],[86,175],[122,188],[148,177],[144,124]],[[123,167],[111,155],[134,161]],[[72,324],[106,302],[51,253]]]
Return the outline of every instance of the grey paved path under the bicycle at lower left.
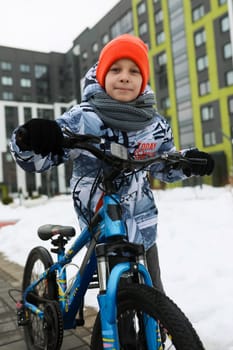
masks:
[[[0,253],[0,350],[26,350],[23,330],[17,326],[16,310],[9,289],[20,289],[22,267],[7,261]],[[91,327],[96,316],[92,308],[85,310],[85,326],[65,331],[62,350],[90,349]]]

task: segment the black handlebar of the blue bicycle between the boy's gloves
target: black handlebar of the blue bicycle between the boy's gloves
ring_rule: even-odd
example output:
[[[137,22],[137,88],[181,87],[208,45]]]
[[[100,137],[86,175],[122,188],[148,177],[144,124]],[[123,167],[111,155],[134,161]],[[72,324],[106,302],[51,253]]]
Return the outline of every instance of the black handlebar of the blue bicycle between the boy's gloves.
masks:
[[[103,150],[97,148],[93,144],[104,144],[105,140],[101,137],[87,134],[74,134],[68,129],[64,130],[66,137],[63,141],[63,147],[68,149],[83,149],[91,152],[98,159],[104,161],[108,165],[117,166],[121,169],[142,169],[153,163],[165,162],[170,165],[176,165],[176,168],[186,168],[191,164],[206,164],[206,159],[188,158],[183,156],[180,152],[164,152],[145,159],[129,158],[127,148],[116,143],[111,144],[111,154],[106,154]]]

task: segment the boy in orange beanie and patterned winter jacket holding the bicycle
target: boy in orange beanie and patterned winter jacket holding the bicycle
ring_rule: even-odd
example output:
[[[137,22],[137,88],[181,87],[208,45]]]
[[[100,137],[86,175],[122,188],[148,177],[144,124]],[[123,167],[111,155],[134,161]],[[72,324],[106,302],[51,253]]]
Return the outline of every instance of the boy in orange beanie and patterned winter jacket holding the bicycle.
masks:
[[[101,185],[95,181],[101,162],[86,151],[63,149],[62,128],[101,136],[105,139],[106,151],[111,141],[123,144],[137,159],[175,151],[171,128],[154,108],[155,98],[147,86],[148,80],[146,45],[137,37],[121,35],[103,48],[98,63],[87,73],[80,105],[56,121],[32,119],[13,133],[12,152],[26,171],[42,172],[73,159],[71,189],[81,228],[88,225],[101,198]],[[210,155],[197,149],[186,154],[204,158],[207,163],[192,165],[184,172],[156,164],[150,168],[151,175],[161,181],[174,182],[190,175],[212,173],[214,162]],[[153,284],[163,291],[155,243],[158,211],[147,172],[143,170],[119,179],[117,186],[129,240],[144,244]]]

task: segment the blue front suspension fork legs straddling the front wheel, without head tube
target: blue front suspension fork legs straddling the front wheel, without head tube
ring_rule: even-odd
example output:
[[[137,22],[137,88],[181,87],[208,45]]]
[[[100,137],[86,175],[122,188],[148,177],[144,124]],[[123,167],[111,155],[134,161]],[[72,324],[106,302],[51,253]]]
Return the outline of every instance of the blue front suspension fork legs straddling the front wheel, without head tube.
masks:
[[[131,247],[133,244],[128,243]],[[108,277],[108,259],[100,251],[106,250],[107,244],[96,247],[100,293],[98,303],[100,308],[103,349],[119,350],[120,341],[117,327],[117,289],[120,278],[127,273],[137,273],[139,282],[152,287],[150,275],[140,259],[137,262],[123,262],[116,264]],[[135,245],[136,246],[136,245]],[[145,337],[147,347],[150,350],[162,349],[158,323],[143,315],[143,323],[146,324]],[[126,335],[127,336],[127,335]]]

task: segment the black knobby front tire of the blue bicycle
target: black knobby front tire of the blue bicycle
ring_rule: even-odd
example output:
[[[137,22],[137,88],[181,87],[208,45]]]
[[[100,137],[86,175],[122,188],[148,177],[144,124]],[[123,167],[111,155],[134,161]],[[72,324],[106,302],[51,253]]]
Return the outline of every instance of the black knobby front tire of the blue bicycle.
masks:
[[[132,311],[146,313],[159,322],[159,324],[163,325],[164,329],[166,329],[166,332],[169,334],[169,349],[204,350],[199,336],[184,313],[171,299],[157,289],[145,285],[129,285],[127,288],[119,289],[117,300],[118,322],[121,315]],[[119,337],[120,336],[119,334]],[[123,339],[126,337],[127,334],[124,333],[124,336],[120,338]],[[91,349],[103,349],[99,312],[93,327]],[[145,344],[141,347],[140,345],[138,345],[138,347],[135,345],[130,347],[130,345],[120,344],[120,349],[149,350]],[[166,349],[166,344],[164,344],[163,349]]]

